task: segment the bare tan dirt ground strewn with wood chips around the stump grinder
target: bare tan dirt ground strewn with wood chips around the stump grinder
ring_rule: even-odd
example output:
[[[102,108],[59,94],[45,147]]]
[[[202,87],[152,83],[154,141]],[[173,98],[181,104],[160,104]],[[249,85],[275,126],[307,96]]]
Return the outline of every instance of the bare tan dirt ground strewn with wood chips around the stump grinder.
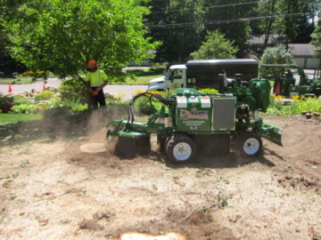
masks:
[[[0,147],[1,239],[109,239],[176,231],[189,239],[321,239],[321,124],[265,117],[284,148],[243,164],[228,156],[173,165],[152,152],[132,160],[70,140]]]

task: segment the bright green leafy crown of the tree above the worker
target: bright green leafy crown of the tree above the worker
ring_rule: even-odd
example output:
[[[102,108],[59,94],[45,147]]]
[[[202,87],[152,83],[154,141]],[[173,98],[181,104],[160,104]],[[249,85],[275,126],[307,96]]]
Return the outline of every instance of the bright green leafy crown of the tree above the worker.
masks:
[[[144,1],[143,1],[144,2]],[[78,76],[86,60],[98,60],[109,79],[123,76],[129,61],[139,62],[155,49],[144,37],[149,10],[139,0],[30,0],[4,25],[10,53],[33,71]]]

